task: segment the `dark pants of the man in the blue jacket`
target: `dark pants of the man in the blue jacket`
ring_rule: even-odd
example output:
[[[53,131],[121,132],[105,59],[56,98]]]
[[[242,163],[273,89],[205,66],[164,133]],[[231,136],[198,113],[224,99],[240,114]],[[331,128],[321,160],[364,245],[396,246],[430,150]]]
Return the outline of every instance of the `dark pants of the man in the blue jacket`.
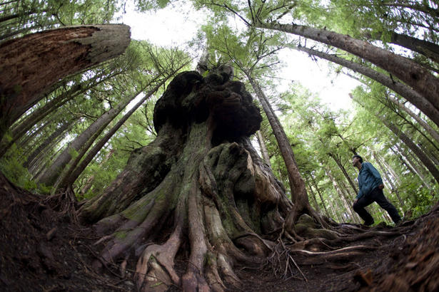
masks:
[[[381,208],[385,209],[385,211],[387,211],[390,215],[390,218],[392,218],[393,222],[398,223],[399,221],[401,221],[401,217],[399,216],[395,206],[393,206],[393,204],[385,199],[383,189],[375,187],[375,189],[373,189],[370,194],[360,197],[360,199],[358,199],[358,201],[353,204],[353,210],[357,212],[358,215],[360,215],[361,219],[365,221],[366,225],[373,224],[373,217],[370,216],[370,214],[364,209],[364,207],[369,206],[373,202],[377,202]]]

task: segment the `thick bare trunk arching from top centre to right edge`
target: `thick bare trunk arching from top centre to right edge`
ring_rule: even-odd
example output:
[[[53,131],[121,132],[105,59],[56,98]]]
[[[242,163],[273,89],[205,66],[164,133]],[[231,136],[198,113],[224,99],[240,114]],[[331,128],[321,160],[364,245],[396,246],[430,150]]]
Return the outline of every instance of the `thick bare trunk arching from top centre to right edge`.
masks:
[[[325,29],[299,26],[296,24],[279,24],[277,22],[253,24],[258,28],[285,31],[314,41],[335,46],[355,56],[364,58],[390,74],[395,75],[415,91],[423,95],[436,110],[439,110],[439,79],[418,63],[403,56],[398,56],[372,44],[347,35],[326,31]]]

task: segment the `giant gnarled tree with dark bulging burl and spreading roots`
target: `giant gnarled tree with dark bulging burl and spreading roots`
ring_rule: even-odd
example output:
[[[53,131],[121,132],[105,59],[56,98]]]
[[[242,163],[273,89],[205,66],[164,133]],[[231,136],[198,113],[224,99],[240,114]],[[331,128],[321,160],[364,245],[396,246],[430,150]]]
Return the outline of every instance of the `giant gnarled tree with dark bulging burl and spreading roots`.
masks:
[[[237,284],[233,266],[261,261],[271,246],[262,236],[281,231],[292,208],[248,138],[261,120],[243,83],[178,74],[156,103],[156,140],[79,210],[84,221],[100,219],[105,245],[94,267],[140,255],[141,291]],[[181,275],[174,260],[183,249],[190,254]]]

